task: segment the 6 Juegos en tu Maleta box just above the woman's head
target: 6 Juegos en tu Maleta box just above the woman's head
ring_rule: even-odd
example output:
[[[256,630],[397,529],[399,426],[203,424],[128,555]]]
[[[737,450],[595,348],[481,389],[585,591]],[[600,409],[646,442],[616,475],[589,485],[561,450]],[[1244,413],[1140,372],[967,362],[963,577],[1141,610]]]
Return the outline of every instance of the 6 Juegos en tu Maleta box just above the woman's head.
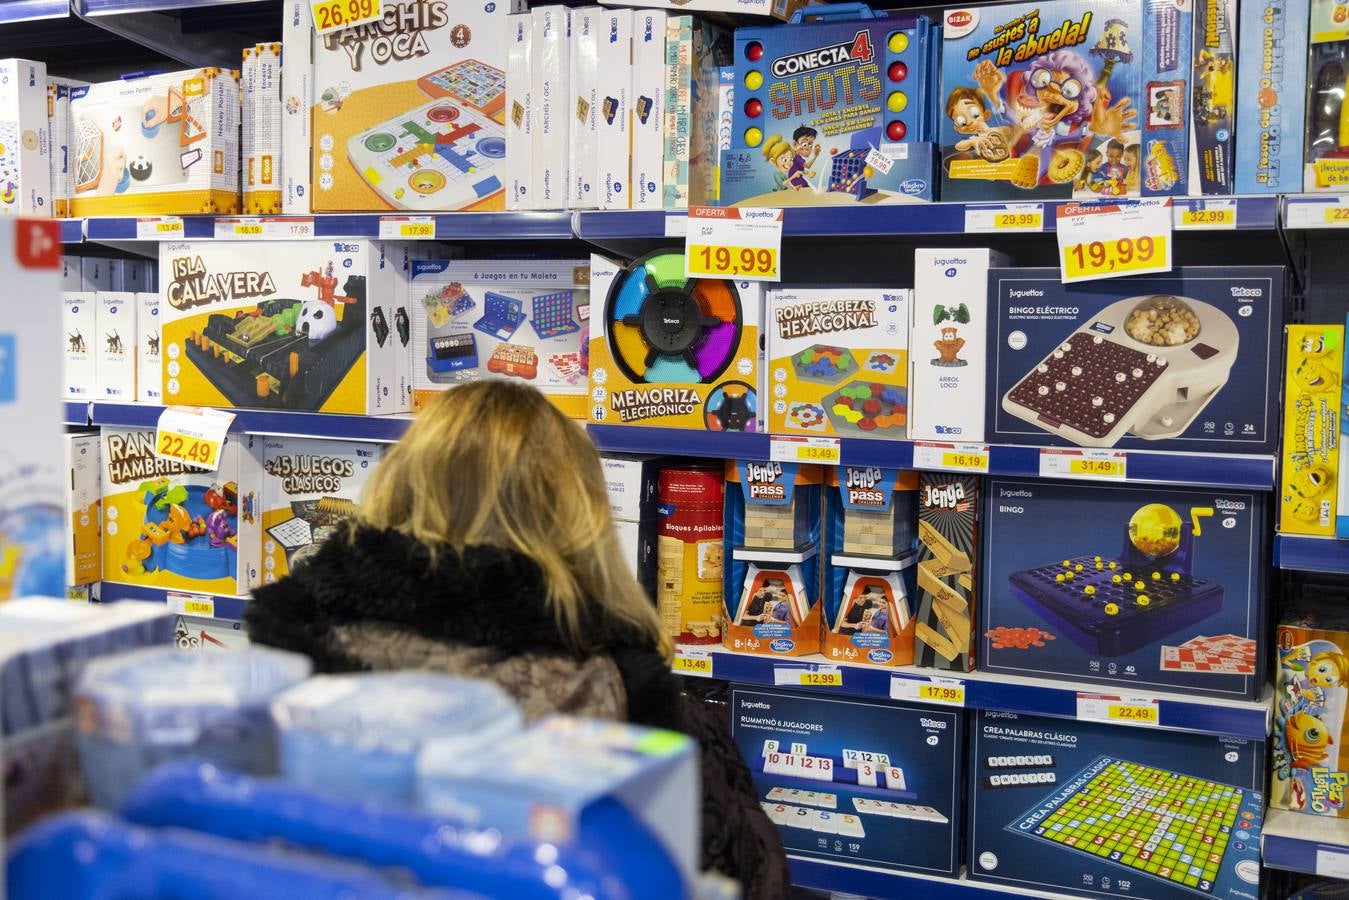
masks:
[[[585,418],[590,264],[413,260],[413,409],[482,378],[518,378]]]

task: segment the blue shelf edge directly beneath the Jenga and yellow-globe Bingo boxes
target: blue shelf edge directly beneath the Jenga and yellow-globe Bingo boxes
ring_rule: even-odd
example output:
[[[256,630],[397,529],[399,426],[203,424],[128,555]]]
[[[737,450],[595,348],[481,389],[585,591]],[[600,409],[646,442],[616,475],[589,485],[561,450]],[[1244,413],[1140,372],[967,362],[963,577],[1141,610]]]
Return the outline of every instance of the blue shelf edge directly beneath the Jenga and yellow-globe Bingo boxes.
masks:
[[[826,660],[819,654],[801,657],[753,656],[734,653],[720,646],[677,648],[674,671],[684,675],[695,673],[697,669],[691,665],[691,660],[699,658],[711,658],[711,673],[703,669],[700,675],[737,684],[788,685],[839,696],[873,700],[902,699],[917,703],[925,702],[917,699],[919,687],[934,684],[958,688],[963,694],[963,706],[967,708],[1051,715],[1060,719],[1078,718],[1079,692],[1089,695],[1128,694],[1129,698],[1155,698],[1159,719],[1156,727],[1170,731],[1229,734],[1261,741],[1269,731],[1269,703],[1267,700],[1183,696],[1149,692],[1128,685],[1051,681],[985,672],[943,672],[912,665],[893,668],[855,665]],[[835,669],[840,676],[839,684],[828,687],[809,684],[822,680],[813,676],[822,672],[831,675]],[[951,696],[951,694],[944,694],[944,696]],[[932,700],[931,704],[951,706],[948,702],[938,700]],[[1144,727],[1128,723],[1121,723],[1121,726]]]

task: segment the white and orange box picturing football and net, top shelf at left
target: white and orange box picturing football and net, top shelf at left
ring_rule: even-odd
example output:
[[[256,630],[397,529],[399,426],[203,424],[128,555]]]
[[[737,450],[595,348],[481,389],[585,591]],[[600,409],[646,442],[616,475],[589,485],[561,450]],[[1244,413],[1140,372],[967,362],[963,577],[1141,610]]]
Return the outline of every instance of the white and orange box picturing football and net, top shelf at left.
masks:
[[[70,89],[70,215],[239,210],[239,73],[192,69]]]

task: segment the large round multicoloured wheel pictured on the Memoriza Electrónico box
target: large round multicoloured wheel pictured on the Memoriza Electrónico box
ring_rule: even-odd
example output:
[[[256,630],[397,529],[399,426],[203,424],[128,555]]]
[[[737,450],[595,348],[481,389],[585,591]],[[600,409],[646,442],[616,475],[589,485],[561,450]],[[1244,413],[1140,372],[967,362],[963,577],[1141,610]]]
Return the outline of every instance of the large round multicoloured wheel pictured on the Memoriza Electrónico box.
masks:
[[[633,382],[716,381],[741,339],[741,297],[716,278],[685,278],[684,254],[634,259],[604,304],[614,362]]]

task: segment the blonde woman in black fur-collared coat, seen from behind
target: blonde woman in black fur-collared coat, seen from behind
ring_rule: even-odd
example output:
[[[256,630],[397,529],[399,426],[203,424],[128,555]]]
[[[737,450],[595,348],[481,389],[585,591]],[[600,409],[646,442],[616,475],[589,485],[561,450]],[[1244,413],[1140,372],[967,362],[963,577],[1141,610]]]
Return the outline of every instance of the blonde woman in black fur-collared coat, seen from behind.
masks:
[[[526,719],[569,712],[696,737],[704,868],[746,897],[788,895],[777,830],[724,716],[679,691],[594,445],[534,389],[486,381],[436,397],[355,519],[256,590],[247,622],[254,641],[306,653],[320,672],[484,677]]]

